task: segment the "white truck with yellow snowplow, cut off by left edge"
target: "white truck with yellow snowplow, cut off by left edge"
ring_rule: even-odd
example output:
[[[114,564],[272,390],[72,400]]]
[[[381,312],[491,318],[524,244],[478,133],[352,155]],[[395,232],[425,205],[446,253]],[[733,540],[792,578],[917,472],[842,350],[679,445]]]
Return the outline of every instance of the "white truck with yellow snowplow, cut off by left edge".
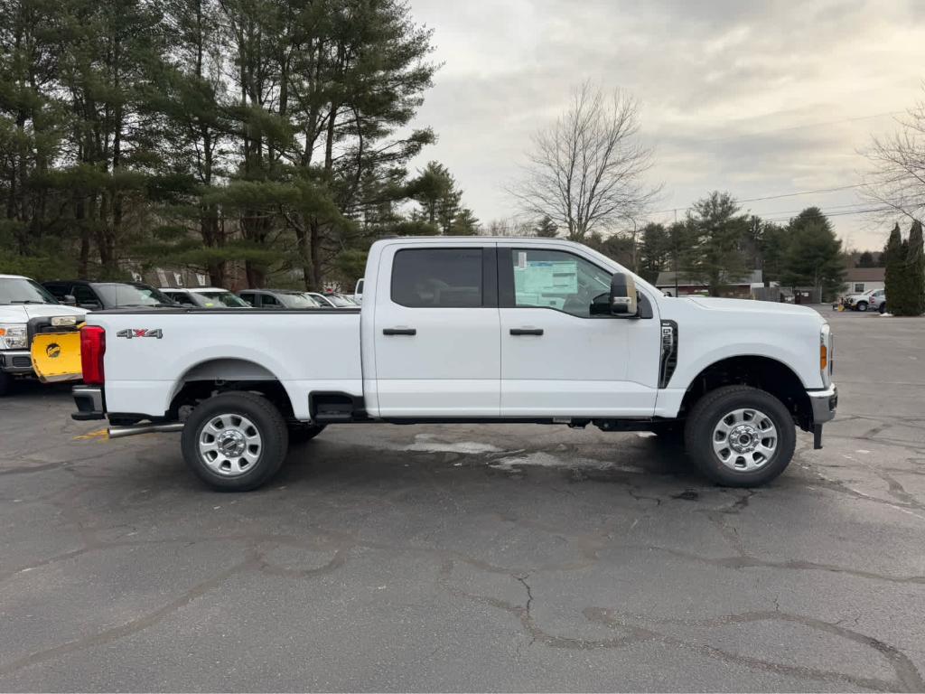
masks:
[[[85,315],[86,311],[60,304],[34,279],[0,275],[0,395],[9,391],[14,378],[36,375],[31,347],[37,332],[46,328],[56,332],[75,330]],[[73,351],[73,345],[68,345],[68,350],[58,345],[51,358],[59,362],[74,359],[75,355],[68,351]],[[79,373],[72,374],[60,380],[80,378]]]

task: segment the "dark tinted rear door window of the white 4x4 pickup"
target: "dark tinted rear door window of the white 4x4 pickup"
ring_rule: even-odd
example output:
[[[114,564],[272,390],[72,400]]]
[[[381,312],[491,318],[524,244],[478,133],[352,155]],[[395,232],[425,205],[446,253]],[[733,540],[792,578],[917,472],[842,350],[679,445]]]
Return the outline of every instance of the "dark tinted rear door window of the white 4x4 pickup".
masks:
[[[391,298],[410,308],[482,305],[481,248],[409,248],[392,261]]]

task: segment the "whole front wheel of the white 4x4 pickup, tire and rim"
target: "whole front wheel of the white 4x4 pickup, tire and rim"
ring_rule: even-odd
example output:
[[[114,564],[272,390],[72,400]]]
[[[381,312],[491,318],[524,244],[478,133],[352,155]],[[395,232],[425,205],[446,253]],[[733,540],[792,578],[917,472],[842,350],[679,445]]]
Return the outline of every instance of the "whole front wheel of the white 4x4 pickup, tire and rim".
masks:
[[[771,393],[749,386],[712,390],[685,426],[687,452],[699,470],[727,487],[759,487],[790,465],[793,417]]]

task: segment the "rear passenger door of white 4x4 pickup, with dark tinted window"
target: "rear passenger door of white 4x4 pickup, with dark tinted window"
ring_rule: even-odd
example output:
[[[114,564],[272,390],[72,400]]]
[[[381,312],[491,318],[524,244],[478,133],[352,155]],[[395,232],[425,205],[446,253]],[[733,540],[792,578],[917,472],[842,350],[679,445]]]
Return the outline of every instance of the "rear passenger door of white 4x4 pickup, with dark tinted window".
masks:
[[[397,243],[384,249],[379,263],[374,317],[378,414],[497,417],[495,244]],[[364,312],[373,309],[364,304]]]

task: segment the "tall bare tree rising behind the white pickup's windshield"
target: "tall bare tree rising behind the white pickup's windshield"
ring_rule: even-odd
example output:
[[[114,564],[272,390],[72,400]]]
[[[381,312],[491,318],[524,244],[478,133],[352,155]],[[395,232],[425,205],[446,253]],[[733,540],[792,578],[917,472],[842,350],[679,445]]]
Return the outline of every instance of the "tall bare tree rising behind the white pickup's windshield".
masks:
[[[635,99],[585,82],[533,137],[524,179],[511,190],[522,212],[549,217],[573,241],[637,217],[658,192],[643,181],[652,152],[638,130]]]

